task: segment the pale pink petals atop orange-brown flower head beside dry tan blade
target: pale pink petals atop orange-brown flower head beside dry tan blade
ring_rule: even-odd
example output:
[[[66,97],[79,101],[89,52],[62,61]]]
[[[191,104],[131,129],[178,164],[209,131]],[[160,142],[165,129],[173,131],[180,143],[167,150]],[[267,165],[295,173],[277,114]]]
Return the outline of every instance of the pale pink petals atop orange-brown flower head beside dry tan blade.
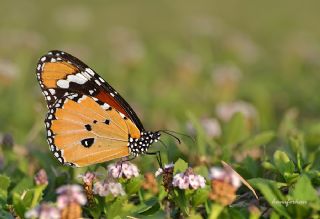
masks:
[[[241,186],[241,180],[234,172],[227,171],[226,169],[222,169],[220,167],[212,167],[210,169],[210,179],[227,182],[236,189]]]

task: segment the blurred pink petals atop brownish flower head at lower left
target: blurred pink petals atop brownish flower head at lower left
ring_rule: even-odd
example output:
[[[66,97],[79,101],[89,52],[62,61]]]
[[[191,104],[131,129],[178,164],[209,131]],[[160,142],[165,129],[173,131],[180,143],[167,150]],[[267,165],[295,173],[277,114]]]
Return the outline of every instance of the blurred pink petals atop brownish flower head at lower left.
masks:
[[[65,185],[57,189],[58,198],[57,204],[59,209],[63,209],[70,203],[85,205],[87,198],[82,192],[82,187],[79,185]]]

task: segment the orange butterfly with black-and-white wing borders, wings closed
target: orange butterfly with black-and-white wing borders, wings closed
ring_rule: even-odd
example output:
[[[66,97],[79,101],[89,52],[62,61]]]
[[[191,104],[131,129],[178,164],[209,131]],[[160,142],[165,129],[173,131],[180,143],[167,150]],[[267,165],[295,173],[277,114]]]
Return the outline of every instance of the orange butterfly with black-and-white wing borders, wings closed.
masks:
[[[53,50],[39,59],[36,72],[48,107],[47,141],[62,164],[154,154],[147,151],[160,131],[145,131],[131,106],[82,61]]]

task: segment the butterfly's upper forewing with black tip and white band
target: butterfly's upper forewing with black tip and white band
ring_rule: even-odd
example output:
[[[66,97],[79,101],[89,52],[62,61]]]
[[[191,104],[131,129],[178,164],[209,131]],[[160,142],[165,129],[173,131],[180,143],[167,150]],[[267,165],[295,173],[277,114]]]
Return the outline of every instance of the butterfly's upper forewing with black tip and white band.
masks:
[[[76,57],[50,51],[40,58],[37,76],[48,107],[70,93],[84,94],[107,103],[143,131],[143,125],[130,105],[95,71]]]

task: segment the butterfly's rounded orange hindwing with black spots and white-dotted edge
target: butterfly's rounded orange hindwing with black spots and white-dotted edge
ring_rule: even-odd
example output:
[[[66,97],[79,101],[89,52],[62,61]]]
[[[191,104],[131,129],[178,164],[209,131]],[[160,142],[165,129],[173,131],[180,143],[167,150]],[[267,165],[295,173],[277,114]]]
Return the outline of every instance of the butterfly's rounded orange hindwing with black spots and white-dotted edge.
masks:
[[[128,135],[139,134],[117,110],[80,94],[59,99],[45,122],[51,151],[60,162],[75,166],[128,156]]]

